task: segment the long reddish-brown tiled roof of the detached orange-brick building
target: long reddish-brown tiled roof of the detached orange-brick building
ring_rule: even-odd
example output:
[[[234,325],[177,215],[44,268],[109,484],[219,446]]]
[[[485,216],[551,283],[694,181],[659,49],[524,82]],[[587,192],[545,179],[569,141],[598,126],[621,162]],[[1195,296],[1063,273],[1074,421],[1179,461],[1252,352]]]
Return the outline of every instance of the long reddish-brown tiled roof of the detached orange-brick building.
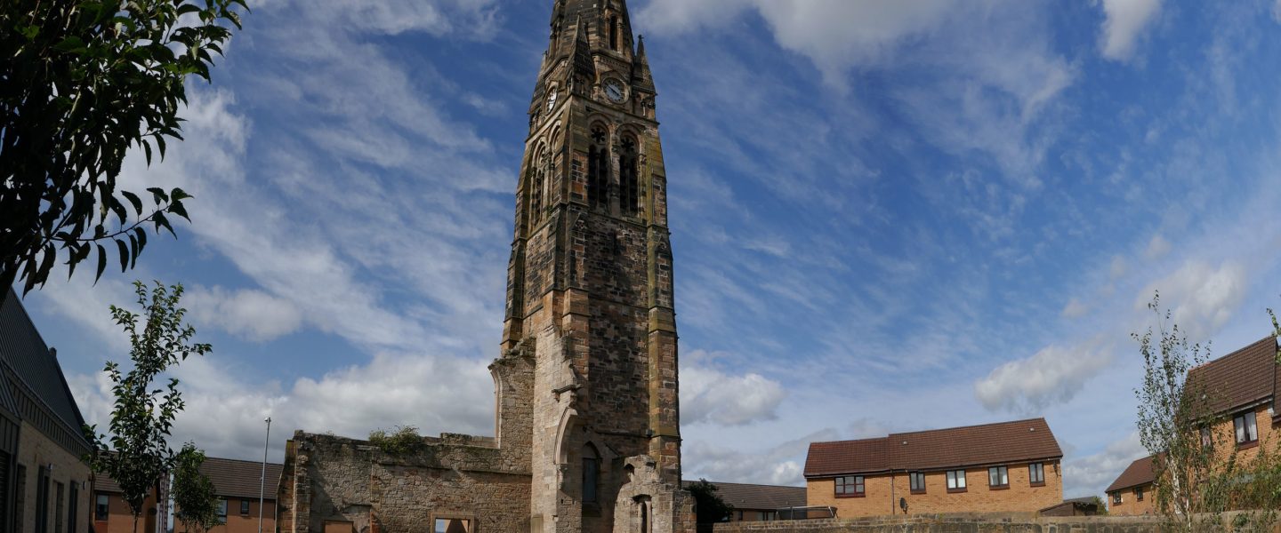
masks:
[[[938,470],[957,467],[1061,459],[1044,418],[893,433],[884,438],[813,442],[804,475],[871,474],[889,470]]]

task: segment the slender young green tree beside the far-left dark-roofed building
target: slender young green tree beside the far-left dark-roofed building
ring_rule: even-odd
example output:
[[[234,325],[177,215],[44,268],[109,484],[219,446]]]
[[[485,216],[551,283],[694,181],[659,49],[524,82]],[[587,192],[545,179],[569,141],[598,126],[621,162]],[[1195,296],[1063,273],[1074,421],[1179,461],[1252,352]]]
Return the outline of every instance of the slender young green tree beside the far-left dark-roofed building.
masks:
[[[152,382],[181,360],[209,353],[210,346],[191,341],[196,330],[183,322],[187,309],[178,307],[182,285],[156,282],[150,294],[141,281],[133,286],[142,314],[111,305],[111,317],[133,346],[133,368],[124,372],[115,362],[106,363],[114,396],[109,435],[87,427],[86,436],[95,444],[94,469],[120,486],[137,529],[147,493],[174,465],[168,437],[183,408],[177,378],[169,378],[164,389]]]

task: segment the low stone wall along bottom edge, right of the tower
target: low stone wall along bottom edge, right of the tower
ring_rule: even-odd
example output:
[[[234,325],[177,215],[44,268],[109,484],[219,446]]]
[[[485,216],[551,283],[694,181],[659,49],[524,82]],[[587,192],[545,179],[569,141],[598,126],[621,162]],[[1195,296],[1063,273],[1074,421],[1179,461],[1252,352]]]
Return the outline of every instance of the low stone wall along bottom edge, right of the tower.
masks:
[[[1223,524],[1232,524],[1237,513],[1225,513]],[[830,520],[738,521],[716,524],[715,533],[798,532],[798,533],[1161,533],[1158,516],[1031,516],[963,514],[917,515],[910,518],[866,518]],[[1231,530],[1225,527],[1221,530]],[[1273,528],[1281,533],[1281,527]]]

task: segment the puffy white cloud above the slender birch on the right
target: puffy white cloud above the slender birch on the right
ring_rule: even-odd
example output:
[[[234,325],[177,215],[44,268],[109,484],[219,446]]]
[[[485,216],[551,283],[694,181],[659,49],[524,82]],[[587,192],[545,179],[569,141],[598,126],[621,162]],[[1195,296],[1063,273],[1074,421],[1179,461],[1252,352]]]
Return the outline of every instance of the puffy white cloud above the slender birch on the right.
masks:
[[[1225,261],[1216,267],[1191,259],[1145,286],[1135,299],[1135,309],[1144,309],[1161,291],[1161,304],[1170,309],[1173,323],[1194,341],[1205,340],[1241,307],[1248,289],[1249,272],[1241,263]]]

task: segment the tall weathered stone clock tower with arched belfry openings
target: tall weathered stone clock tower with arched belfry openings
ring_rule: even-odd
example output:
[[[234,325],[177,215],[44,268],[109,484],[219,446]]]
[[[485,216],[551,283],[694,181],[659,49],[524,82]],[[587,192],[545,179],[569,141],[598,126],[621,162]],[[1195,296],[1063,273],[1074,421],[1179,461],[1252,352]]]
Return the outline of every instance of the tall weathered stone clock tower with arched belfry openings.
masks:
[[[679,529],[655,96],[625,0],[555,1],[516,189],[502,341],[534,353],[534,533]]]

